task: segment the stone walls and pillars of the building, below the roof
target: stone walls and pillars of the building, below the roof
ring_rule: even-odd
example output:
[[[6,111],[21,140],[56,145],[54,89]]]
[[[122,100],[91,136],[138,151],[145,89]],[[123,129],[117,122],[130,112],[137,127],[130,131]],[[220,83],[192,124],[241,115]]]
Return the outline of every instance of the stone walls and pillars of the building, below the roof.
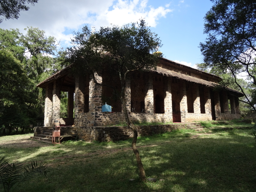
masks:
[[[99,83],[106,83],[106,77],[102,74],[95,73],[95,78]],[[108,87],[104,86],[103,89],[96,84],[92,76],[75,78],[74,87],[68,90],[69,119],[61,119],[60,84],[57,79],[47,87],[45,126],[73,125],[73,92],[75,126],[97,127],[125,122],[122,110],[102,113],[102,105],[105,104],[102,103],[102,97],[104,94],[111,96],[112,92],[108,93]],[[108,105],[120,105],[120,99]],[[201,84],[154,73],[134,73],[131,76],[126,87],[126,107],[131,121],[140,122],[193,122],[239,118],[238,99],[228,95],[226,91],[216,92]]]

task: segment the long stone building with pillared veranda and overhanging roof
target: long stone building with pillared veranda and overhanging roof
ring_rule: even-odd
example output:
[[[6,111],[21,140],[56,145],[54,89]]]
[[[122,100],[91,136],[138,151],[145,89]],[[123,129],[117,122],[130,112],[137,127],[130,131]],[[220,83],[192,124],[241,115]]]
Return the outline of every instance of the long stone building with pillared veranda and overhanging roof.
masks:
[[[45,127],[73,125],[78,130],[125,122],[121,101],[113,90],[95,84],[88,75],[70,74],[67,67],[37,85],[46,89]],[[102,83],[111,83],[104,71],[97,78]],[[218,76],[161,58],[157,70],[133,73],[128,80],[129,116],[132,121],[140,122],[239,118],[239,97],[243,94],[216,88],[219,81]],[[68,92],[67,118],[60,117],[61,91]],[[102,112],[105,103],[112,106],[111,112]]]

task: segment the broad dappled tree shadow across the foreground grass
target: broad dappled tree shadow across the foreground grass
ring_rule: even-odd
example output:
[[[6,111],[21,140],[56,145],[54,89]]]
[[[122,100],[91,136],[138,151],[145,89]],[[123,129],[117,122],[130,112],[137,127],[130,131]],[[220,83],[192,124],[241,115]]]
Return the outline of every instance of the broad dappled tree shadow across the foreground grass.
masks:
[[[152,144],[139,151],[146,176],[157,178],[155,183],[140,182],[132,150],[73,158],[64,154],[72,146],[60,146],[55,153],[62,158],[49,163],[48,176],[37,177],[17,191],[255,192],[255,142],[249,134],[232,132],[221,138],[189,139],[186,133],[165,140],[141,138],[140,145]],[[95,151],[93,147],[84,145],[84,154]],[[38,154],[38,158],[47,154]],[[129,181],[132,178],[135,181]]]

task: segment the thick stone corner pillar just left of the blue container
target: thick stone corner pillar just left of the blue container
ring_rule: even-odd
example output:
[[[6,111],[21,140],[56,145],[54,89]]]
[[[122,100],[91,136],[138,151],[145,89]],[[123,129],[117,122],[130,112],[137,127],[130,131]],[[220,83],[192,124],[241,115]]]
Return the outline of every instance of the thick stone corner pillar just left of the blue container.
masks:
[[[102,77],[97,73],[94,74],[98,83],[102,83]],[[93,79],[89,82],[89,111],[91,114],[90,123],[93,126],[101,126],[98,123],[99,113],[102,112],[102,86],[96,84]],[[102,119],[101,119],[102,120]]]

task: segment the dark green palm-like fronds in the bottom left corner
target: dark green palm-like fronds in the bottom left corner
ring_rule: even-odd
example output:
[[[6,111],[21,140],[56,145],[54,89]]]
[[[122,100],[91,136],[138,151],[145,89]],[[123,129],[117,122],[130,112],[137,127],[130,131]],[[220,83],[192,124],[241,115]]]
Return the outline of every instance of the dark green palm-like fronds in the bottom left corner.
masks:
[[[47,175],[47,166],[44,163],[31,162],[23,170],[22,164],[9,164],[5,157],[0,156],[0,185],[4,191],[14,191],[14,189],[27,180],[31,180],[35,174]]]

